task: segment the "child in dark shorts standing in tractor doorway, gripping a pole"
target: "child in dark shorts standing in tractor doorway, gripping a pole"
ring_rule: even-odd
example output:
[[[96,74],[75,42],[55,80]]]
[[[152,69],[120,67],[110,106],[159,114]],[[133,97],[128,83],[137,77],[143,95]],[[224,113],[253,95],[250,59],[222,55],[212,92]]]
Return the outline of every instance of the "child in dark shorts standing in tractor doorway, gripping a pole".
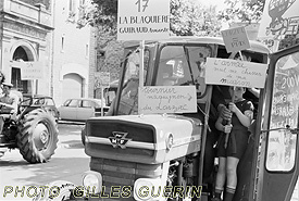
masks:
[[[248,127],[253,118],[253,103],[244,99],[245,87],[229,87],[229,95],[234,102],[229,102],[232,124],[225,125],[220,116],[215,123],[216,129],[223,131],[219,139],[219,172],[215,184],[215,201],[221,200],[226,184],[224,201],[232,201],[237,187],[237,165],[246,151],[249,131]],[[234,97],[233,97],[234,96]],[[229,135],[226,141],[226,135]],[[226,183],[225,183],[226,179]]]

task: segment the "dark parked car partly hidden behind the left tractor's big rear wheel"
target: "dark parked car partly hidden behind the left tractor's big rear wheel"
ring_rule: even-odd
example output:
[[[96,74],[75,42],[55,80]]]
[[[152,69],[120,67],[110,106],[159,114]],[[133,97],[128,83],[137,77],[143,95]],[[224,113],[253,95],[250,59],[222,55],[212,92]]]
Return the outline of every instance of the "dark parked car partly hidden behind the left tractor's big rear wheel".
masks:
[[[21,108],[30,105],[30,108],[34,110],[35,108],[42,106],[46,109],[46,111],[49,111],[54,116],[57,122],[59,121],[60,114],[52,97],[43,95],[34,95],[34,97],[32,97],[30,95],[24,95],[22,99],[23,100],[20,104]]]

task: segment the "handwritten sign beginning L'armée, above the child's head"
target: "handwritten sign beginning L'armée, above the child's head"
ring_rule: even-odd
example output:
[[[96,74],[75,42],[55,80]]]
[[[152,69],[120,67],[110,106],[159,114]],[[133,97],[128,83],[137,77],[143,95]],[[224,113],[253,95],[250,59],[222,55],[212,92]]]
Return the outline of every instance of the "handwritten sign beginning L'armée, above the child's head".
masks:
[[[264,88],[267,64],[207,58],[205,84]]]

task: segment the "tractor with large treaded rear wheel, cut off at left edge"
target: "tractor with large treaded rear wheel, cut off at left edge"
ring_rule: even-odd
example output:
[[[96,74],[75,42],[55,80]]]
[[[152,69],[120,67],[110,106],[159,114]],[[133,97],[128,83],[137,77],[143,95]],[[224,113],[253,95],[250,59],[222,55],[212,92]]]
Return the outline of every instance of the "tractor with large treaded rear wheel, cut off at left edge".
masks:
[[[53,155],[58,143],[58,125],[51,113],[42,105],[37,106],[36,98],[21,101],[17,114],[4,122],[0,134],[1,156],[8,149],[18,149],[28,163],[48,162]],[[2,110],[0,114],[10,114],[10,110]]]

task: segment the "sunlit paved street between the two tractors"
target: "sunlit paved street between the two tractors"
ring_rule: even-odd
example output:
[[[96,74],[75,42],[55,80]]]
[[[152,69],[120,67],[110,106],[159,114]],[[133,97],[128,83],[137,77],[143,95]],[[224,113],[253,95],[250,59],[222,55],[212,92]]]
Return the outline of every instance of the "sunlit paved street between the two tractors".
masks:
[[[0,200],[30,200],[23,198],[21,191],[14,192],[16,187],[28,186],[37,188],[54,180],[67,180],[80,185],[82,173],[89,169],[89,158],[84,152],[80,141],[83,124],[59,124],[59,142],[55,153],[48,163],[29,164],[17,149],[7,151],[0,159]],[[4,197],[5,187],[13,187],[13,193]]]

